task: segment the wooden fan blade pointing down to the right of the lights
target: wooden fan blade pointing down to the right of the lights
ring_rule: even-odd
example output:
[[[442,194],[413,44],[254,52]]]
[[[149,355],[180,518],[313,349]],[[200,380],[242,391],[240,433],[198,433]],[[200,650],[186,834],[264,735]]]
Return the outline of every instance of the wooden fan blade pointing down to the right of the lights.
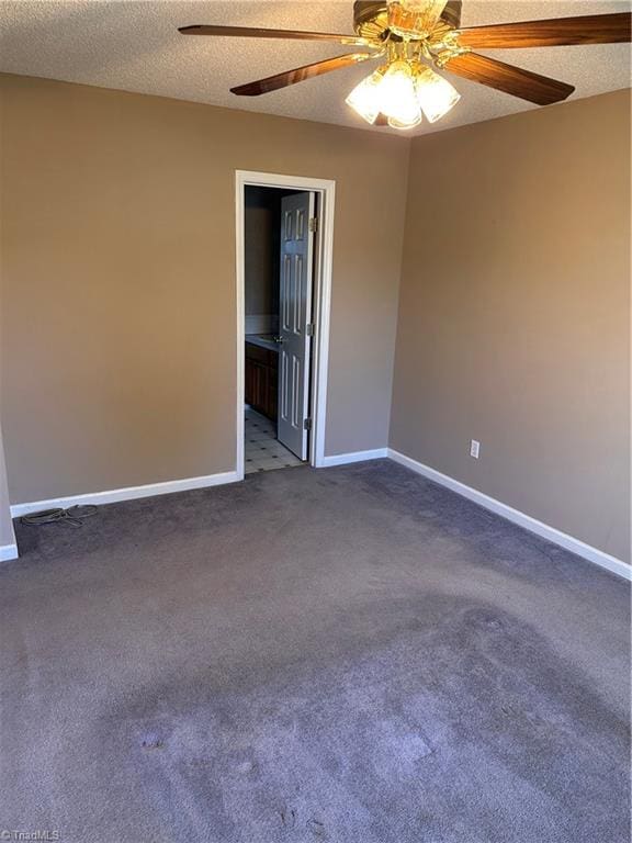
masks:
[[[520,97],[522,100],[549,105],[565,100],[575,88],[566,82],[558,82],[546,76],[523,70],[521,67],[506,65],[495,58],[479,56],[477,53],[464,53],[445,63],[445,69],[452,74],[472,79],[481,85],[488,85],[499,91]]]

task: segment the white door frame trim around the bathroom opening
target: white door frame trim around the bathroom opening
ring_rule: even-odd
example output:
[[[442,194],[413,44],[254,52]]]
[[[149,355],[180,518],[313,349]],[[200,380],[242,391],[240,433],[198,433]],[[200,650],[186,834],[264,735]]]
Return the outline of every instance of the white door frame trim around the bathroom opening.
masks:
[[[237,479],[244,480],[244,358],[246,346],[245,302],[245,198],[246,187],[311,190],[318,194],[318,231],[314,244],[314,341],[312,345],[312,436],[309,464],[325,464],[325,428],[327,424],[327,369],[329,359],[329,316],[331,310],[331,274],[334,268],[334,207],[336,182],[304,176],[274,172],[235,171],[236,267],[237,267]]]

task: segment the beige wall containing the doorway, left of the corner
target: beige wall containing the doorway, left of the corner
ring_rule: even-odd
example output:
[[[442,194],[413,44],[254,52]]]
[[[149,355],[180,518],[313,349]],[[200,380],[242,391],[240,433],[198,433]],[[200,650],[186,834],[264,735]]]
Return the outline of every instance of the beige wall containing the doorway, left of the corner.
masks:
[[[26,77],[2,90],[13,502],[235,468],[236,169],[336,180],[326,453],[386,445],[407,140]]]

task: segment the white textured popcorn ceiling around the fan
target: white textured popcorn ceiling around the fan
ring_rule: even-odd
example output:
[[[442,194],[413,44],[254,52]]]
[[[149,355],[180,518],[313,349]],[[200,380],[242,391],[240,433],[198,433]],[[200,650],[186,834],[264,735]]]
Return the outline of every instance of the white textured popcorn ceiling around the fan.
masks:
[[[630,2],[592,0],[464,0],[463,26],[574,14],[629,11]],[[180,35],[194,23],[352,32],[352,2],[215,2],[215,0],[2,0],[0,70],[124,91],[174,97],[233,109],[369,127],[345,97],[371,64],[258,98],[237,98],[229,88],[347,52],[335,44],[298,41],[204,38]],[[576,87],[571,99],[630,85],[628,44],[494,50],[488,55]],[[433,126],[440,131],[538,108],[459,77],[463,94]]]

